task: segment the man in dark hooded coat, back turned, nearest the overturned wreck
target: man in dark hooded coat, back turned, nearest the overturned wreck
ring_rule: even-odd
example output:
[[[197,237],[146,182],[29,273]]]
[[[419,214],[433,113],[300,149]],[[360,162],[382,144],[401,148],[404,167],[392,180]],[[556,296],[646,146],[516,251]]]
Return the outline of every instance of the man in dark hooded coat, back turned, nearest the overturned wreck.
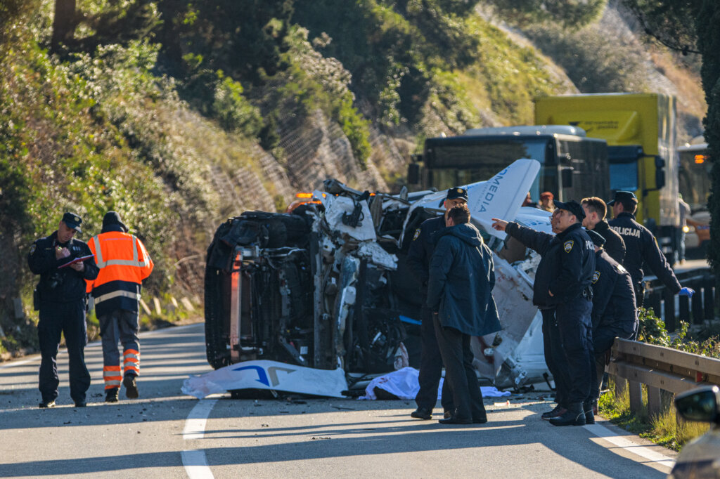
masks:
[[[455,409],[441,424],[487,422],[482,393],[472,367],[470,337],[500,331],[492,288],[492,252],[469,224],[467,205],[448,211],[446,228],[433,235],[435,252],[428,280],[428,308],[445,364]]]

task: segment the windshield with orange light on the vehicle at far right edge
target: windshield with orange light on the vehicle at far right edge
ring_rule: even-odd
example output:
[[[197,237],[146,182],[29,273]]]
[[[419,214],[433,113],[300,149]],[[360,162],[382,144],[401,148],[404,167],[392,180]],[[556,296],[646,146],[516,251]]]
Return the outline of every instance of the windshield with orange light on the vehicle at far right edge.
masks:
[[[680,194],[693,213],[707,209],[710,196],[710,168],[707,145],[678,148],[680,155]]]

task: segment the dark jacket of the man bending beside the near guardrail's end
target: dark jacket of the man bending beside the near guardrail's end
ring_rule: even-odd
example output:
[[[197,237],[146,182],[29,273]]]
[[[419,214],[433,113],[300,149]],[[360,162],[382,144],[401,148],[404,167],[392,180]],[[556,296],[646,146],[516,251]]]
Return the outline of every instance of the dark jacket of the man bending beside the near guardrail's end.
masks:
[[[610,328],[630,334],[637,329],[635,290],[630,273],[600,248],[593,273],[593,331]]]

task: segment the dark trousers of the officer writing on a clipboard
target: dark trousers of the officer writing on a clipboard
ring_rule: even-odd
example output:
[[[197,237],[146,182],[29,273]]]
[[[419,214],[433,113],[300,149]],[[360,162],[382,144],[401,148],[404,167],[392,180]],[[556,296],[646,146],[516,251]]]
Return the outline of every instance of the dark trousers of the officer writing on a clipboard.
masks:
[[[58,350],[60,334],[65,335],[70,363],[70,397],[76,403],[85,401],[90,387],[90,373],[85,366],[87,329],[85,324],[85,301],[70,303],[42,302],[40,321],[37,323],[37,339],[40,341],[40,394],[42,402],[58,398]]]

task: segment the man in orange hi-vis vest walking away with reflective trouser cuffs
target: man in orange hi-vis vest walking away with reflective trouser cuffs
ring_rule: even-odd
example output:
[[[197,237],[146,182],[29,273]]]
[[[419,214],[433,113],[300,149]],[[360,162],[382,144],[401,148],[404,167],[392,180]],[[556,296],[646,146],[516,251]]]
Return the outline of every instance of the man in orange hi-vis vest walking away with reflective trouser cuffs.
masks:
[[[105,214],[102,232],[90,239],[88,246],[100,268],[97,278],[87,280],[87,292],[92,293],[100,321],[105,401],[117,402],[121,380],[125,396],[135,399],[135,378],[140,374],[138,301],[143,280],[153,271],[153,260],[140,239],[127,233],[116,211]],[[124,375],[120,371],[118,341],[122,343]]]

